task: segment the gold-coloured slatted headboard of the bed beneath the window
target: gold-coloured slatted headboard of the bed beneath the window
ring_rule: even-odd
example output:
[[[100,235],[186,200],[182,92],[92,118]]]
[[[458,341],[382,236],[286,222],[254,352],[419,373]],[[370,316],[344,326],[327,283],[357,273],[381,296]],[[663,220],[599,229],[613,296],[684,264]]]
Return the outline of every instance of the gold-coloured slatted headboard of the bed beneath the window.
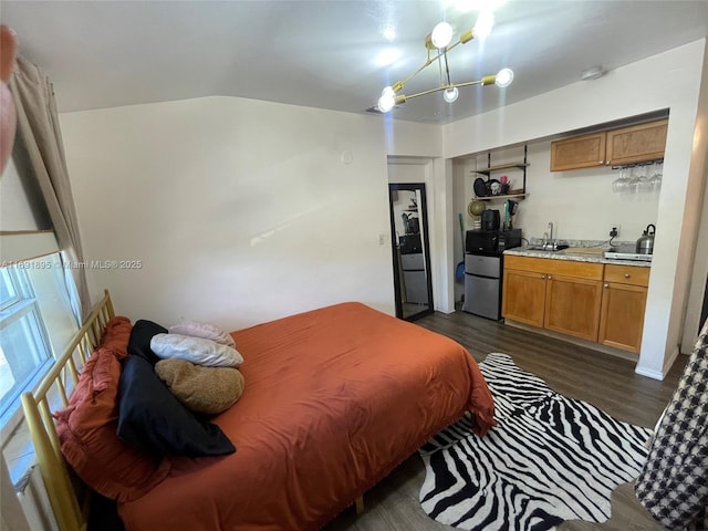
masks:
[[[61,454],[50,400],[61,397],[63,407],[69,405],[69,395],[79,381],[80,371],[98,345],[106,323],[113,316],[113,303],[106,290],[39,387],[22,395],[37,461],[60,531],[86,529],[88,500],[80,501],[72,485]]]

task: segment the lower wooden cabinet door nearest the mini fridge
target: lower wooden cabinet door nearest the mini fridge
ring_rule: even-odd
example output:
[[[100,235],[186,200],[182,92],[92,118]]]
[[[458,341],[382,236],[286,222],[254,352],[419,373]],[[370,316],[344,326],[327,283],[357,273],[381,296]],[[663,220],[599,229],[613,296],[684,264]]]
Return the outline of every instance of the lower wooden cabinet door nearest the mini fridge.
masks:
[[[533,326],[543,326],[544,300],[544,274],[504,269],[501,309],[504,317]]]

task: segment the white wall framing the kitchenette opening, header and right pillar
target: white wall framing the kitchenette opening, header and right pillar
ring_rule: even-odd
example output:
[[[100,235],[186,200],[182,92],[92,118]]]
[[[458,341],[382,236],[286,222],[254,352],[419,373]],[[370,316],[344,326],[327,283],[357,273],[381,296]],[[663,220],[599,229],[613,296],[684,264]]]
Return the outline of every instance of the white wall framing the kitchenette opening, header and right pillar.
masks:
[[[662,377],[678,351],[690,251],[696,244],[696,214],[702,196],[693,190],[701,189],[705,173],[701,175],[695,164],[691,167],[691,148],[705,50],[706,41],[696,41],[598,80],[574,83],[442,129],[445,156],[455,158],[669,110],[665,177],[656,217],[658,235],[637,365],[637,372],[654,377]],[[537,192],[533,177],[529,189]],[[561,226],[568,222],[568,212],[549,211],[548,216],[555,217]],[[587,227],[595,222],[594,218],[587,219]],[[539,229],[534,223],[529,230]]]

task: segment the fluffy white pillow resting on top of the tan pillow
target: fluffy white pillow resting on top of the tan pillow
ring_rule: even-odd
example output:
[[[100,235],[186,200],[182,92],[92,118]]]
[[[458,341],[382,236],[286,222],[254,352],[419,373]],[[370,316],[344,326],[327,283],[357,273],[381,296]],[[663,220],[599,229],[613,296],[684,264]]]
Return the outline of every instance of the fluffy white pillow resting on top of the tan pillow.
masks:
[[[205,367],[238,367],[243,363],[236,348],[189,335],[156,334],[150,350],[162,360],[186,360]]]

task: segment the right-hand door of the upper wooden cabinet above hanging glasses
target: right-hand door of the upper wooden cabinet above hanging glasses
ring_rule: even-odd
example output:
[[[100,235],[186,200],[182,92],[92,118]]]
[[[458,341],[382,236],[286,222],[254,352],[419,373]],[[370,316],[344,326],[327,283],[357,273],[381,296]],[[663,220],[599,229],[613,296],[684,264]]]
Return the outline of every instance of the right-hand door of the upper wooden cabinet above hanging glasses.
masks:
[[[606,159],[613,166],[664,158],[668,119],[607,132]]]

